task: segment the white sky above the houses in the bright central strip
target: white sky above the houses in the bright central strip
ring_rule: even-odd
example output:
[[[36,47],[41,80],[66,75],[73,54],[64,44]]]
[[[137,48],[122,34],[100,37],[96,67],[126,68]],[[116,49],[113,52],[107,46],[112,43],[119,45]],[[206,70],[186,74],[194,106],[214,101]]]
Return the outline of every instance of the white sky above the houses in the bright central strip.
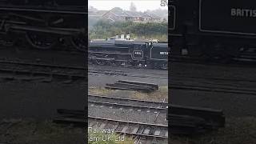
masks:
[[[94,6],[98,10],[111,10],[120,7],[122,10],[130,9],[130,2],[134,2],[137,11],[156,10],[158,8],[168,9],[167,6],[160,6],[161,0],[89,0],[88,6]]]

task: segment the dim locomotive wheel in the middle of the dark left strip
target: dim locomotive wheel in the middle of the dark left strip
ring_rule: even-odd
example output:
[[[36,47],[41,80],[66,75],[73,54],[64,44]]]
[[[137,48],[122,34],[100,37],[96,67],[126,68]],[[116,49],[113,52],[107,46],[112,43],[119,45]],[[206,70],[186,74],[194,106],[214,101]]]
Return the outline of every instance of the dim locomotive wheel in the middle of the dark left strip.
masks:
[[[26,40],[30,43],[30,46],[42,50],[51,49],[58,42],[58,38],[51,37],[49,34],[36,32],[27,32]]]

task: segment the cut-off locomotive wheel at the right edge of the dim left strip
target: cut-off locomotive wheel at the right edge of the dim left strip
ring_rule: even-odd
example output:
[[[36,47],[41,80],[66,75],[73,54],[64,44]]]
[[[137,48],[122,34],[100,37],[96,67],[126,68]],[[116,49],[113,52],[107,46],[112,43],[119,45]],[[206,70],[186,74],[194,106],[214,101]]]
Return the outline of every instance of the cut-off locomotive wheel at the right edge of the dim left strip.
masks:
[[[87,38],[83,34],[78,34],[70,38],[71,44],[80,51],[86,51]]]

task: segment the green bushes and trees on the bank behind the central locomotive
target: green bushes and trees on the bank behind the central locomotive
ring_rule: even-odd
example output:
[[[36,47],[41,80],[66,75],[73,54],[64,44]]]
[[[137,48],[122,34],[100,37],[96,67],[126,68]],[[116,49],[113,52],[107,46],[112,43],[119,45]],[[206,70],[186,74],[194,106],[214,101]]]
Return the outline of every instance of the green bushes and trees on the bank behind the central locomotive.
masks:
[[[167,41],[167,22],[109,22],[99,20],[89,30],[89,38],[106,39],[115,35],[130,34],[130,38],[152,38]]]

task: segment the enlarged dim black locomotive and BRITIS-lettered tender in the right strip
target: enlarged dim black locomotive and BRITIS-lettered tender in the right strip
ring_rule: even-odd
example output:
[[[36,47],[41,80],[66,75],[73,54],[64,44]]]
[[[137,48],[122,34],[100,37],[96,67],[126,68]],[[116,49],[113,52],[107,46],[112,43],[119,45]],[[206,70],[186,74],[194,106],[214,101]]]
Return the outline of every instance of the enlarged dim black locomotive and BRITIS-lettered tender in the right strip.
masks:
[[[234,58],[256,46],[254,0],[174,0],[169,6],[173,55]]]

